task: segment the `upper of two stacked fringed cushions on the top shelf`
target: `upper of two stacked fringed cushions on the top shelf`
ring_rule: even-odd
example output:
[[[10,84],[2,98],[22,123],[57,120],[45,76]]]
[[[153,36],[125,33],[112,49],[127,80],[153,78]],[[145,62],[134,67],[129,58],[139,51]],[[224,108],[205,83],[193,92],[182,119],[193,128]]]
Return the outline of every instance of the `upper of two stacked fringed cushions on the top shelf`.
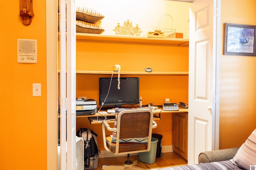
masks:
[[[103,18],[104,16],[102,14],[91,8],[81,6],[76,7],[76,20],[97,23]]]

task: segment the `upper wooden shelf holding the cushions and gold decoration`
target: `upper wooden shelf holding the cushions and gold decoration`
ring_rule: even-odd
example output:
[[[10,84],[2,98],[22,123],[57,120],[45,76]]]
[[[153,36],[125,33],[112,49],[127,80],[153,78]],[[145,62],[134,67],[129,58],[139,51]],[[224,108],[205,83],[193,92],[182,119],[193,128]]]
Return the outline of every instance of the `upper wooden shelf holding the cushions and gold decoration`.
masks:
[[[174,47],[188,47],[189,40],[181,38],[151,38],[122,35],[101,35],[89,33],[76,33],[76,41],[94,43],[121,43],[134,45],[160,45]]]

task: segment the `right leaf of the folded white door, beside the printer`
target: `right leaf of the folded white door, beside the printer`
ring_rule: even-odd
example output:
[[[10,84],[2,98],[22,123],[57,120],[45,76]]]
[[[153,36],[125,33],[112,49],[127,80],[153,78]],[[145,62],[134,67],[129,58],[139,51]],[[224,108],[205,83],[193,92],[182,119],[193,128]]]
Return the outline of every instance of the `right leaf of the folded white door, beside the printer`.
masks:
[[[76,169],[76,7],[75,0],[67,4],[67,167]]]

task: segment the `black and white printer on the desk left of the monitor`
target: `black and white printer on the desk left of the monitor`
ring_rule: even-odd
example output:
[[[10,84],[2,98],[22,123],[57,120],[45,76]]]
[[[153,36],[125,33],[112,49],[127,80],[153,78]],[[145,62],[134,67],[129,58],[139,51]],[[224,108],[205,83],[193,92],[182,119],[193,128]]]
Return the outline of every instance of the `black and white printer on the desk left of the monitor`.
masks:
[[[76,98],[76,115],[94,115],[97,102],[94,99]]]

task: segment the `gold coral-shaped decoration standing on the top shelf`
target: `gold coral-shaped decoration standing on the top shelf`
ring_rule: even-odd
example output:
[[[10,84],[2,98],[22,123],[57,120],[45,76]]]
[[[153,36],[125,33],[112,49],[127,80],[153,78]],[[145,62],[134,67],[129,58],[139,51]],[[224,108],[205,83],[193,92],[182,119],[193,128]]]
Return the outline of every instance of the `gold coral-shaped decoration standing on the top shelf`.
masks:
[[[140,36],[142,31],[140,31],[140,28],[138,24],[136,24],[136,27],[132,26],[132,21],[129,20],[124,21],[124,26],[120,26],[120,23],[117,23],[117,26],[115,26],[115,29],[113,31],[116,32],[116,35],[132,35],[132,36]]]

